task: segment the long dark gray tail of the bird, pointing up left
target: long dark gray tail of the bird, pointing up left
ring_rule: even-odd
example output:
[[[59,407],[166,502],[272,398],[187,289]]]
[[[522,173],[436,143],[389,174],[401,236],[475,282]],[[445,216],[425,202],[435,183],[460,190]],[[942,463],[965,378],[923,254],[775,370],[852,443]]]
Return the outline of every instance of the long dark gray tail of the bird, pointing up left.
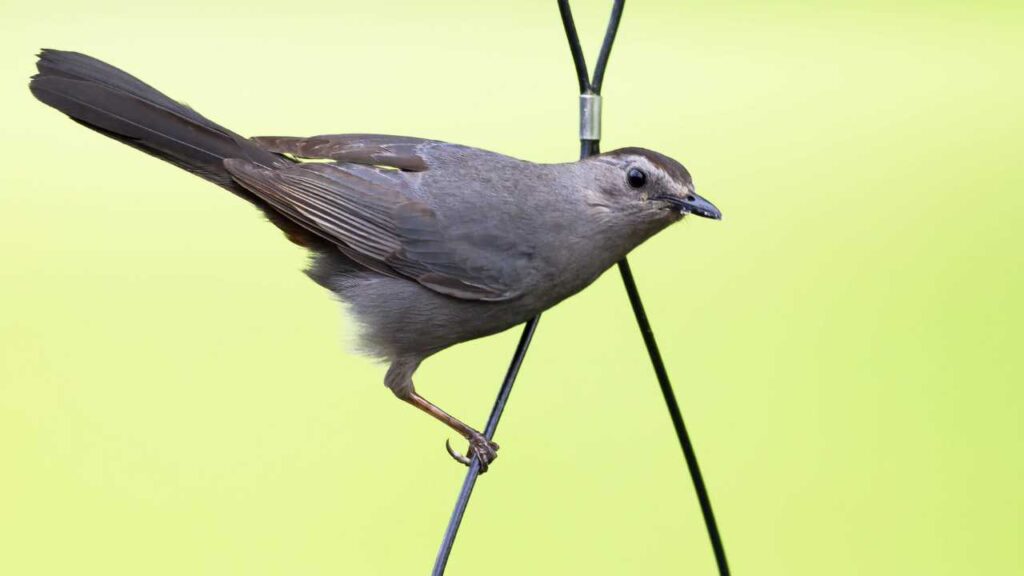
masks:
[[[217,183],[259,206],[267,217],[306,244],[307,233],[239,186],[224,160],[270,167],[288,160],[210,121],[190,108],[113,66],[78,52],[45,49],[29,88],[37,98],[101,134]]]

